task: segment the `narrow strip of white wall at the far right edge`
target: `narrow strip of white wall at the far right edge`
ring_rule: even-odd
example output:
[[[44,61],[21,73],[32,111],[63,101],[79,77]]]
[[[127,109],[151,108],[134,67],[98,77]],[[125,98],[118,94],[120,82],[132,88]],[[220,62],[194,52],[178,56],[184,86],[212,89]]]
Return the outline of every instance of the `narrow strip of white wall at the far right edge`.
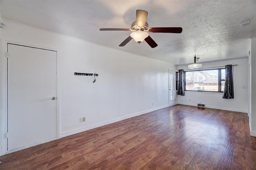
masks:
[[[249,125],[250,133],[256,136],[256,37],[250,39],[249,55]]]

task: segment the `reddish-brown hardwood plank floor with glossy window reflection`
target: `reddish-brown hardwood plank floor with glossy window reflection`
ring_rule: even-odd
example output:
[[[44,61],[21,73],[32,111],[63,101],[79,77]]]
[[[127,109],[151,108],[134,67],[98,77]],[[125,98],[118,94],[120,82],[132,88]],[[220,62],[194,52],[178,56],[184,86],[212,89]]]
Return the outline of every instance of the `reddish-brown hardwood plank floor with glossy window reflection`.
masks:
[[[175,105],[0,156],[13,169],[256,169],[246,113]]]

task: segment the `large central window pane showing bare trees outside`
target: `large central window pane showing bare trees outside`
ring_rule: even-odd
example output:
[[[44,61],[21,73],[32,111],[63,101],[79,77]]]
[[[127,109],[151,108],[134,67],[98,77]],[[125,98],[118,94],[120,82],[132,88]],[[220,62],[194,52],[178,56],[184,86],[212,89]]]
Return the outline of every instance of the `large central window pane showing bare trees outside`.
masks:
[[[218,91],[218,69],[186,71],[186,90]]]

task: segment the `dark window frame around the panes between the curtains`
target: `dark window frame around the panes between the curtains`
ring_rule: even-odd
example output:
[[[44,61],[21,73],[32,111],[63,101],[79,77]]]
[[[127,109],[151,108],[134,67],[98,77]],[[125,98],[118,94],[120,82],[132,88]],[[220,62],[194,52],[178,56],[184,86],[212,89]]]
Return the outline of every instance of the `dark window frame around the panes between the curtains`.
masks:
[[[225,79],[222,79],[222,77],[221,77],[221,71],[222,70],[225,70],[225,68],[214,68],[214,69],[200,69],[200,70],[186,70],[186,71],[184,71],[185,72],[185,74],[184,74],[184,79],[185,79],[185,91],[198,91],[198,92],[210,92],[210,93],[212,93],[212,92],[214,92],[214,93],[223,93],[223,91],[221,91],[221,83],[222,83],[222,81],[225,81]],[[192,71],[207,71],[207,70],[218,70],[218,91],[203,91],[203,90],[187,90],[186,89],[186,72],[192,72]],[[176,72],[176,76],[178,77],[178,72]],[[178,84],[178,79],[176,79],[176,85]],[[178,90],[178,86],[176,86],[176,90]]]

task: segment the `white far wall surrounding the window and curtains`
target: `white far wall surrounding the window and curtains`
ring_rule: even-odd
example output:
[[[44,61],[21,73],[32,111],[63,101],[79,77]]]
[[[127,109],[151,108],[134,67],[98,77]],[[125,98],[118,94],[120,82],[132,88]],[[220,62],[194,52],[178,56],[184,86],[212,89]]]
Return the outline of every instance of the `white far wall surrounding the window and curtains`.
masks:
[[[205,62],[202,69],[229,64],[237,64],[233,67],[234,99],[222,99],[223,93],[185,91],[185,96],[178,95],[178,104],[197,106],[202,103],[208,108],[248,113],[248,58]],[[179,65],[178,69],[187,70],[188,66]]]

